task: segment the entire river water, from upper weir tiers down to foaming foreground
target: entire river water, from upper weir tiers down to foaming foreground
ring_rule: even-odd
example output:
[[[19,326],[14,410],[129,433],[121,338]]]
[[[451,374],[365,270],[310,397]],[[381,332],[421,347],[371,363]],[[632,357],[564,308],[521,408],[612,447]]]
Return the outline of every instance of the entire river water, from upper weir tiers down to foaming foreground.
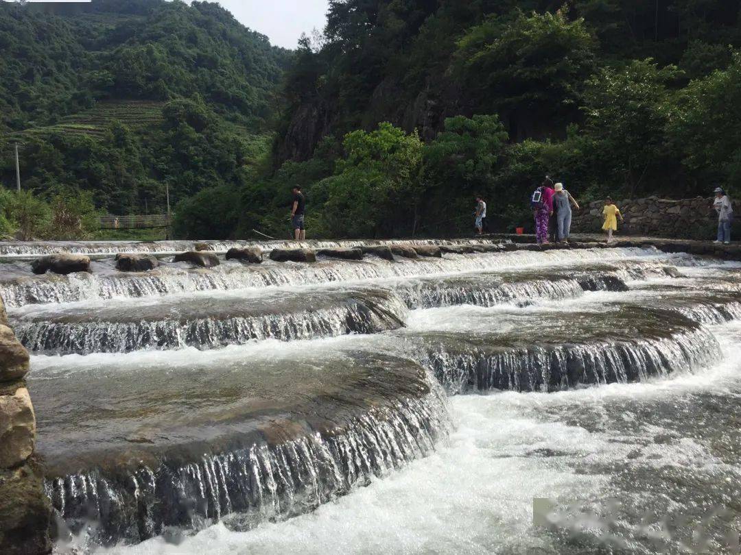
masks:
[[[90,274],[31,275],[55,248],[5,246],[0,295],[60,554],[737,552],[740,264],[78,243]]]

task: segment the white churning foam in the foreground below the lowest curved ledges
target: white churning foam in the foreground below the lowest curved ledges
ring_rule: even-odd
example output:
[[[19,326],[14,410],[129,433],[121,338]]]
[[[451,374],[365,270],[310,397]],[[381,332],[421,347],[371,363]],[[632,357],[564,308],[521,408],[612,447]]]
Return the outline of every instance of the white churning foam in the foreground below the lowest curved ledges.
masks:
[[[645,423],[618,434],[599,425],[616,406],[623,407],[618,418],[631,422],[639,409],[659,401],[679,403],[708,393],[737,397],[741,326],[714,331],[725,345],[724,360],[695,374],[554,394],[456,397],[451,404],[457,429],[435,454],[313,513],[250,531],[230,530],[236,522],[219,523],[171,542],[156,538],[99,553],[566,552],[559,536],[532,525],[534,497],[579,502],[614,496],[611,468],[622,461],[637,461],[649,472],[689,468],[699,474],[739,474],[738,463],[723,462],[702,440],[682,436],[681,430]],[[625,410],[625,403],[633,410]],[[594,415],[594,429],[578,418],[569,422],[571,414],[585,412]],[[673,441],[659,440],[667,435]],[[641,444],[642,452],[635,455]],[[637,542],[621,546],[609,536],[594,541],[587,551],[605,542],[651,552]]]

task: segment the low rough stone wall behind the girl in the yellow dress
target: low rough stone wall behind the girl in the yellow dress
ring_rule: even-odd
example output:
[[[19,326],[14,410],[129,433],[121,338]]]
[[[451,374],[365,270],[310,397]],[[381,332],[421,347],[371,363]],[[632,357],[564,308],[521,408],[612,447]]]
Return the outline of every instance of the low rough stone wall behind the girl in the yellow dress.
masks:
[[[712,198],[669,201],[648,197],[622,201],[614,199],[614,203],[625,218],[625,223],[618,221],[617,229],[625,235],[714,239],[717,232],[718,216],[712,208]],[[599,232],[602,229],[602,206],[605,206],[604,201],[594,201],[583,205],[578,212],[574,211],[571,232]],[[741,204],[734,202],[734,214],[741,215],[740,210]],[[741,218],[737,218],[739,220]]]

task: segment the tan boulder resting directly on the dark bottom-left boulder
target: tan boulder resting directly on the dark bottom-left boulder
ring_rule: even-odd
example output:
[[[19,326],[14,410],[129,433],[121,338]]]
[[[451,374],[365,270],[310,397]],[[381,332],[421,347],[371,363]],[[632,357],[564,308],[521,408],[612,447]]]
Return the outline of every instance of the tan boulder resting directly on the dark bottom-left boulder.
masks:
[[[0,395],[0,468],[12,468],[33,453],[36,417],[27,388]]]

